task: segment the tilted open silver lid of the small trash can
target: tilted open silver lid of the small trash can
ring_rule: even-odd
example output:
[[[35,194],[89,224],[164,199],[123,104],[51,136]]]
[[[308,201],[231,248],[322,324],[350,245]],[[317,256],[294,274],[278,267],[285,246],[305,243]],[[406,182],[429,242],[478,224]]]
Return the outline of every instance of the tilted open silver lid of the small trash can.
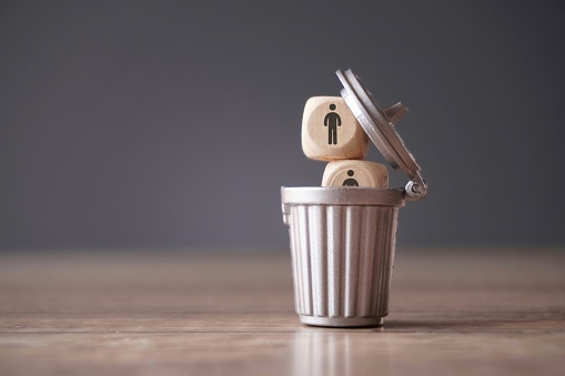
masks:
[[[420,174],[420,165],[394,128],[394,123],[406,114],[407,109],[396,103],[382,110],[351,69],[345,72],[337,70],[335,73],[343,84],[341,94],[345,103],[371,141],[394,170],[402,169],[411,180],[406,193],[414,200],[422,199],[426,193],[426,184]]]

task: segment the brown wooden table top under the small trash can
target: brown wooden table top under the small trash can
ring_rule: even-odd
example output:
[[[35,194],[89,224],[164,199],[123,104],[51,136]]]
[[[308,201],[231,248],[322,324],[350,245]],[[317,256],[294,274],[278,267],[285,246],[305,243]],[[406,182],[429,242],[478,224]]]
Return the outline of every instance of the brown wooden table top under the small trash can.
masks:
[[[299,323],[290,252],[0,255],[2,375],[563,375],[565,250],[398,250],[382,328]]]

